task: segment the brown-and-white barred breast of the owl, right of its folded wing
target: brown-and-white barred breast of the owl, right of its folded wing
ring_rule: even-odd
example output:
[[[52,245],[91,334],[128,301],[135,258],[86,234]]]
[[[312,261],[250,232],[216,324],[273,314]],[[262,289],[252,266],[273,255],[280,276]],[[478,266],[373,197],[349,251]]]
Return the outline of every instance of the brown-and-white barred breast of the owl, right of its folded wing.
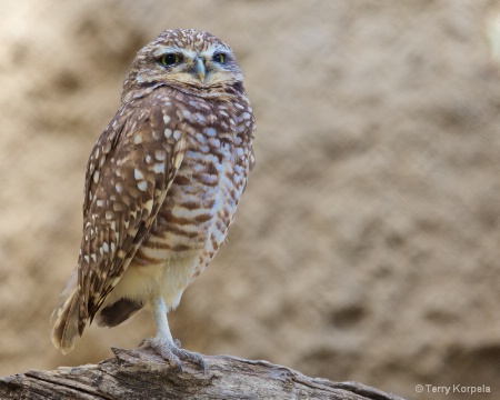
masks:
[[[189,137],[182,164],[136,261],[198,256],[208,263],[228,234],[244,188],[248,163],[242,157],[234,140]]]

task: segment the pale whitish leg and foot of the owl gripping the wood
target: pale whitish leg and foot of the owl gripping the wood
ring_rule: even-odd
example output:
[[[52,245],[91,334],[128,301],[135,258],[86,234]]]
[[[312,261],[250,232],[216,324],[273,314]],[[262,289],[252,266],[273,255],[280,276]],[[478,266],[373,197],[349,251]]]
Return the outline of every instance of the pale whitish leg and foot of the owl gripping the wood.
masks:
[[[151,339],[146,339],[142,347],[150,347],[154,349],[162,358],[174,363],[179,371],[182,372],[182,362],[180,359],[191,360],[207,370],[203,357],[197,352],[188,351],[180,348],[180,342],[174,341],[172,333],[170,333],[169,321],[167,319],[167,304],[162,297],[159,297],[153,307],[153,316],[157,322],[157,336]]]

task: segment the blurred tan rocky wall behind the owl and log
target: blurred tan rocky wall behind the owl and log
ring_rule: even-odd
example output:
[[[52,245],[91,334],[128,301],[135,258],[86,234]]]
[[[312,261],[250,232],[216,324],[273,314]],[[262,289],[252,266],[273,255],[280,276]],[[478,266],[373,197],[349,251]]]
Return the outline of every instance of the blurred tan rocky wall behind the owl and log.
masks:
[[[258,162],[173,336],[411,398],[449,398],[420,383],[498,399],[498,6],[0,0],[0,374],[99,362],[154,333],[140,313],[62,357],[49,318],[130,62],[164,29],[197,28],[237,53]]]

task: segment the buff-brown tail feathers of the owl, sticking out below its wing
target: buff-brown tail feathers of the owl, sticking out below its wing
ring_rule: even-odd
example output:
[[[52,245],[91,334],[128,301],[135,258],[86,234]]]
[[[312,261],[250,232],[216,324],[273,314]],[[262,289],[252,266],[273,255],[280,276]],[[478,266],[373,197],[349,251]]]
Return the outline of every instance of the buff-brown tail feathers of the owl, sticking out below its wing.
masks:
[[[78,291],[78,272],[71,276],[61,293],[52,318],[57,318],[52,330],[52,343],[63,354],[74,348],[74,341],[81,337],[87,324],[87,316],[82,316],[81,297]]]

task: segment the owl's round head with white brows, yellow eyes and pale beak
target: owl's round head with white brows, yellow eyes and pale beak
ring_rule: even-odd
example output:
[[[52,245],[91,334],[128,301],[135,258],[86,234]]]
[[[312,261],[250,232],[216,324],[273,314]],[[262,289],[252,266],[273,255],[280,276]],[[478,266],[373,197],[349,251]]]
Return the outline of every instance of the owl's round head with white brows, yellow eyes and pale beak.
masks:
[[[137,53],[123,97],[157,83],[203,94],[217,88],[241,87],[242,79],[231,48],[219,38],[193,29],[167,30]]]

